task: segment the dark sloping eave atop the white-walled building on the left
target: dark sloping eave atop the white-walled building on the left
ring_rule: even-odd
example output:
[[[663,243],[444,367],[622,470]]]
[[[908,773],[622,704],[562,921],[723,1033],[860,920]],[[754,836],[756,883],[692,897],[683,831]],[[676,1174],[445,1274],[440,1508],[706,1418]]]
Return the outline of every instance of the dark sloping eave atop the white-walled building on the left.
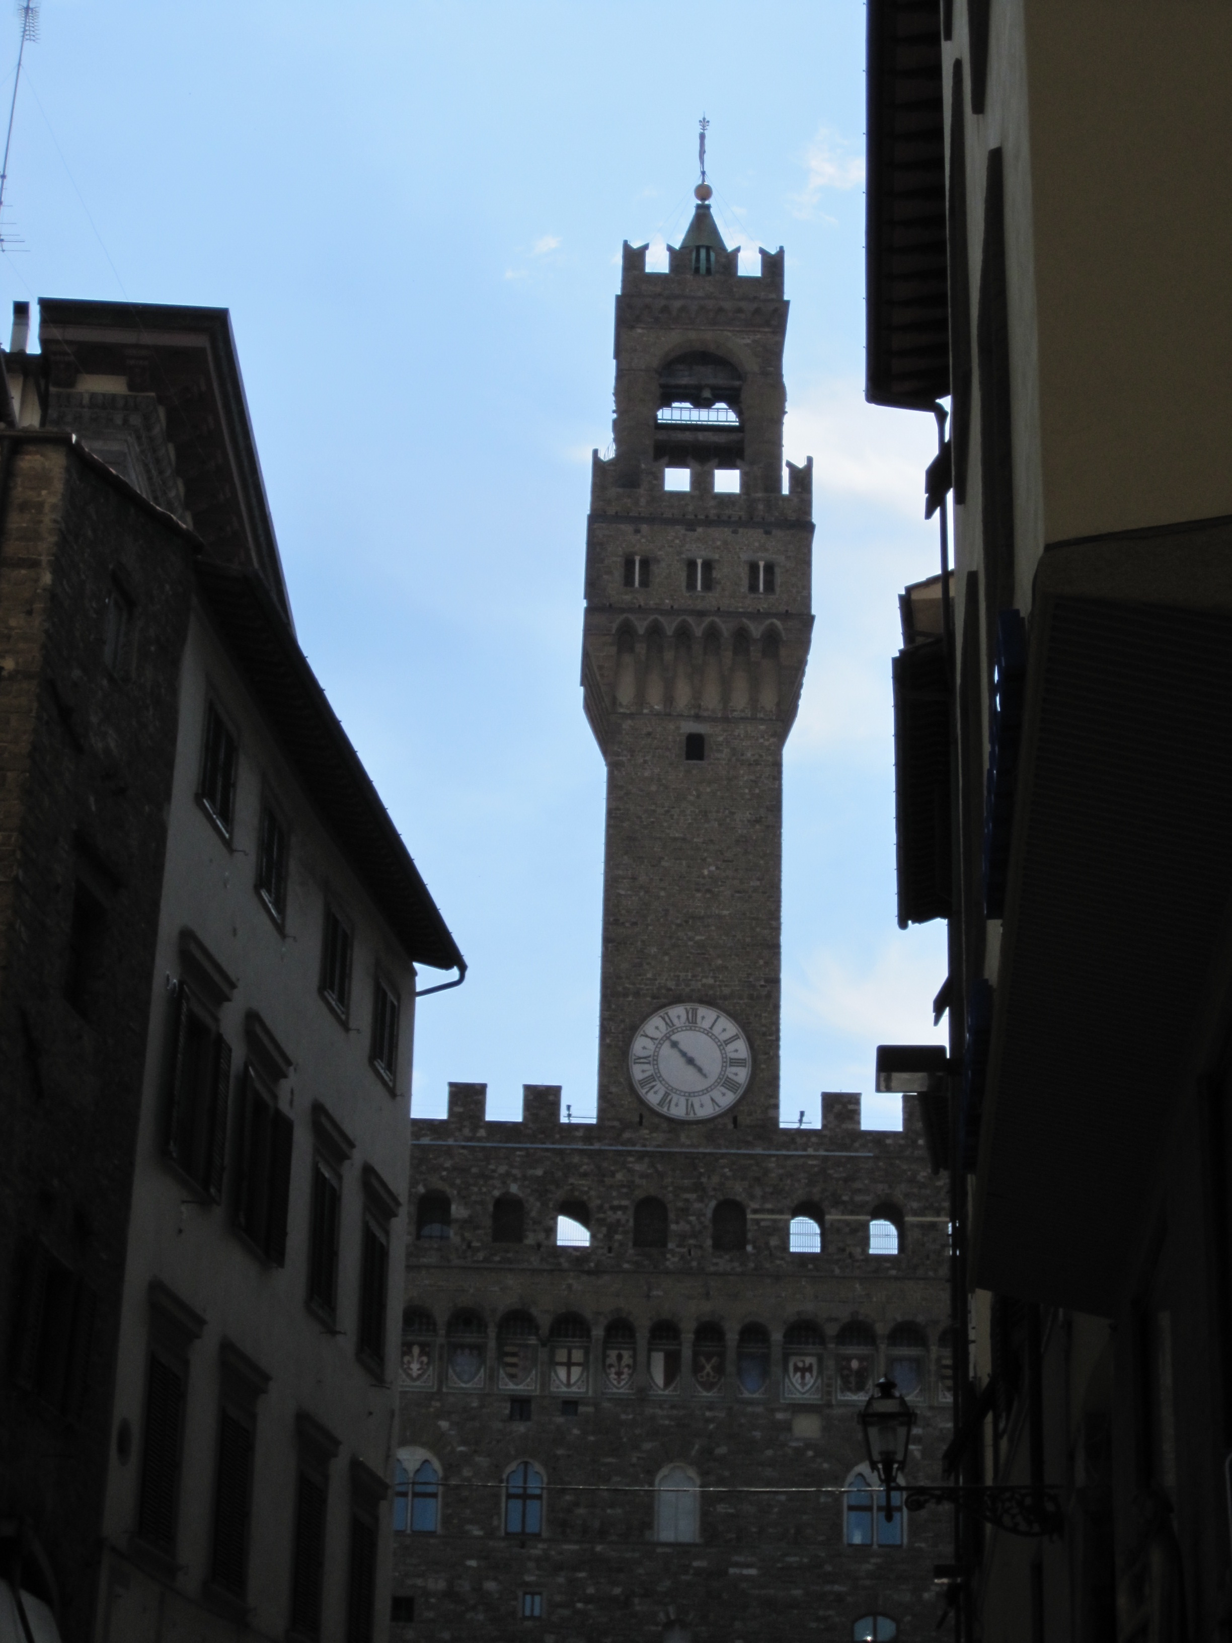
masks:
[[[437,904],[264,580],[199,559],[197,588],[284,757],[407,958],[465,974]]]

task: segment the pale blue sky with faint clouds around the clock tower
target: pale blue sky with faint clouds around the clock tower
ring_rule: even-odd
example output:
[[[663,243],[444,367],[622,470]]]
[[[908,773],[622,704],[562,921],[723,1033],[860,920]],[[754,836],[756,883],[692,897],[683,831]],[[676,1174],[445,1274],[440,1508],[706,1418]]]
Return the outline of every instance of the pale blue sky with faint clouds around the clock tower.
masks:
[[[728,243],[787,246],[785,445],[816,462],[784,1111],[941,1037],[943,932],[894,917],[889,687],[935,430],[862,403],[862,54],[853,0],[43,3],[0,294],[232,311],[301,642],[471,966],[421,1006],[419,1112],[448,1079],[593,1112],[590,450],[621,240],[654,266],[683,232],[703,112]]]

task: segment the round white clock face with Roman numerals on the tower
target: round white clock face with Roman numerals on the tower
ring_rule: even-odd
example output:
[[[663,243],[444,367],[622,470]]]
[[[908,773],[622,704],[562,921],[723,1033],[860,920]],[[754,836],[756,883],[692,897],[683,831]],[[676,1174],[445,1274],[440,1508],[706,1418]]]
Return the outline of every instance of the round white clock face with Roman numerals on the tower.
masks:
[[[711,1004],[669,1004],[632,1035],[629,1078],[647,1107],[669,1119],[713,1119],[749,1088],[749,1040]]]

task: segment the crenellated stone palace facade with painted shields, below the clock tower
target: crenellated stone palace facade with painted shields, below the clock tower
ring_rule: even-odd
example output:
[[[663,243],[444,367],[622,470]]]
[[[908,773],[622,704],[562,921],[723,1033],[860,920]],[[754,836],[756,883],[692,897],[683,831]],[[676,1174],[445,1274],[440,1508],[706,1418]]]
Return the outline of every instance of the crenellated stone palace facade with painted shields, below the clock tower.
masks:
[[[422,1193],[448,1194],[452,1236],[409,1245],[407,1306],[425,1308],[437,1336],[429,1380],[402,1393],[399,1444],[434,1457],[444,1495],[440,1533],[394,1536],[394,1592],[414,1597],[416,1620],[393,1636],[754,1643],[788,1633],[851,1643],[861,1615],[887,1613],[902,1643],[925,1643],[940,1613],[931,1566],[946,1556],[948,1520],[912,1518],[903,1548],[848,1546],[836,1493],[862,1459],[862,1397],[843,1397],[836,1359],[838,1332],[853,1319],[876,1332],[877,1372],[895,1324],[925,1332],[910,1475],[940,1477],[949,1439],[945,1188],[928,1171],[913,1102],[905,1132],[885,1134],[859,1129],[857,1098],[828,1096],[820,1132],[777,1130],[738,1152],[688,1132],[673,1147],[614,1144],[598,1125],[562,1125],[559,1098],[531,1086],[521,1124],[486,1122],[485,1086],[453,1084],[448,1119],[412,1125],[412,1213]],[[521,1245],[491,1237],[493,1203],[508,1193],[526,1204]],[[669,1206],[664,1250],[632,1249],[632,1206],[646,1193]],[[747,1209],[742,1252],[710,1247],[719,1198]],[[586,1204],[590,1249],[555,1245],[565,1199]],[[823,1209],[823,1254],[788,1250],[788,1221],[805,1201]],[[869,1254],[874,1211],[900,1221],[899,1255]],[[460,1308],[478,1311],[486,1329],[481,1387],[468,1390],[448,1385],[447,1372]],[[498,1326],[513,1309],[537,1324],[529,1421],[511,1420],[499,1378]],[[585,1390],[570,1398],[552,1390],[549,1370],[552,1323],[565,1313],[590,1328]],[[636,1374],[621,1393],[601,1378],[614,1319],[636,1331]],[[821,1382],[803,1398],[792,1395],[784,1357],[784,1332],[800,1321],[825,1337]],[[657,1323],[682,1336],[677,1395],[657,1393],[647,1375]],[[690,1377],[701,1323],[726,1337],[723,1387],[705,1395]],[[751,1323],[770,1336],[761,1397],[736,1382],[736,1342]],[[503,1477],[522,1459],[547,1479],[540,1539],[503,1533]],[[690,1467],[708,1490],[696,1544],[654,1539],[654,1482],[670,1464]],[[831,1492],[775,1492],[818,1487]],[[544,1599],[534,1631],[519,1618],[526,1590]]]

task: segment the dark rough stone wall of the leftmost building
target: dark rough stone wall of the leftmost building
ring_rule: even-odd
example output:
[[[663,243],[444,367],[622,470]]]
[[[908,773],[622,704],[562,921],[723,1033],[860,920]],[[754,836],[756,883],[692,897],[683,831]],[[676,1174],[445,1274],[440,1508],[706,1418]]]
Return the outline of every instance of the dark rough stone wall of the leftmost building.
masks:
[[[84,1643],[192,568],[174,521],[62,434],[0,437],[0,1518],[38,1536]],[[113,578],[133,601],[120,677]],[[105,905],[89,1019],[64,997],[79,879]],[[33,1240],[95,1301],[67,1411],[11,1380]]]

